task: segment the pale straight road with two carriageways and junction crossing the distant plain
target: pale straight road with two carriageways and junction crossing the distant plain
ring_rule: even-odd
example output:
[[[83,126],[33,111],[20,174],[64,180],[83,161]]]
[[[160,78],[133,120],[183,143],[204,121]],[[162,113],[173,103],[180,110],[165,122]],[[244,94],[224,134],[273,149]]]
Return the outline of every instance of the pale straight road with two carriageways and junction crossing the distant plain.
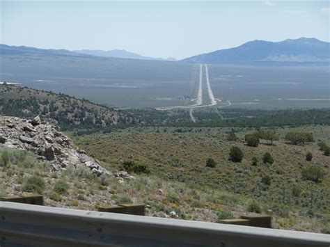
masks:
[[[208,67],[207,64],[204,65],[205,67],[205,78],[206,78],[206,86],[207,86],[207,93],[210,98],[210,104],[203,104],[203,65],[200,65],[200,72],[199,72],[199,81],[198,81],[198,90],[197,90],[197,98],[196,98],[196,104],[190,104],[187,106],[168,106],[168,107],[157,107],[155,109],[159,111],[169,111],[173,109],[190,109],[189,115],[191,118],[191,121],[196,122],[196,119],[194,118],[193,115],[193,110],[195,108],[203,108],[203,107],[210,107],[210,106],[216,106],[218,104],[217,99],[215,99],[211,85],[210,85],[210,77],[209,77],[209,72],[208,72]],[[230,106],[230,102],[227,101],[228,105]],[[226,106],[221,106],[226,107]],[[216,109],[217,111],[217,109]],[[222,115],[217,111],[217,113],[220,115],[221,119]]]

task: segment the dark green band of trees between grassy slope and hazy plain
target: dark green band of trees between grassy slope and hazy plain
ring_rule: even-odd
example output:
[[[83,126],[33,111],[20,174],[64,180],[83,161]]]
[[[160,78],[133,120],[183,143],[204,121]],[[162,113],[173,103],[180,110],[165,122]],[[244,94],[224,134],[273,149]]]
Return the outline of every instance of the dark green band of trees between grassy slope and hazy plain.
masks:
[[[221,112],[225,119],[221,120],[218,114],[212,112],[194,113],[196,118],[203,121],[191,122],[187,111],[164,112],[155,111],[153,109],[130,110],[129,114],[138,113],[138,118],[142,116],[147,122],[146,127],[299,127],[302,125],[330,125],[330,109],[313,109],[313,110],[246,110],[246,109],[227,109]],[[157,114],[159,113],[159,118]],[[136,115],[134,115],[136,116]],[[150,117],[150,118],[148,118]],[[164,123],[166,122],[166,123]],[[117,125],[94,129],[81,129],[74,134],[85,135],[95,132],[110,133],[116,132],[118,129],[134,127],[131,125]],[[190,129],[189,131],[191,131]],[[184,132],[178,129],[178,132]]]

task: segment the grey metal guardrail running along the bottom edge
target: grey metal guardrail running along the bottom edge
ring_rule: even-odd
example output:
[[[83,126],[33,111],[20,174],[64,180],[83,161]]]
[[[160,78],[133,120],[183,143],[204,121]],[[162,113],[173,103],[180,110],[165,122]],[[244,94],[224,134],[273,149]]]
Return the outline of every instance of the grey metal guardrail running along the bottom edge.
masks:
[[[0,202],[0,246],[329,246],[330,235]]]

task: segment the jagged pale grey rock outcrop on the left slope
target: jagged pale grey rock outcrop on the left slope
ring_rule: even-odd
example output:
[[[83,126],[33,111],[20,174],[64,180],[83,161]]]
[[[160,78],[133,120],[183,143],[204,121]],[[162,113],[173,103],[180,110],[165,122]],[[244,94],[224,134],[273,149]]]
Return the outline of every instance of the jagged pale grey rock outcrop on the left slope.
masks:
[[[34,152],[39,159],[49,161],[54,170],[86,166],[97,176],[111,175],[84,150],[75,147],[68,136],[58,131],[58,127],[41,122],[39,117],[26,120],[0,116],[0,146]]]

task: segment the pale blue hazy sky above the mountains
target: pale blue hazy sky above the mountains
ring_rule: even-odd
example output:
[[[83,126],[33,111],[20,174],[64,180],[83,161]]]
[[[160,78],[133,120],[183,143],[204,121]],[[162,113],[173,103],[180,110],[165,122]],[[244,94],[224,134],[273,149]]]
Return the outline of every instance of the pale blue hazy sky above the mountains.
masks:
[[[1,1],[0,41],[185,58],[249,40],[330,41],[329,18],[329,1],[317,0]]]

